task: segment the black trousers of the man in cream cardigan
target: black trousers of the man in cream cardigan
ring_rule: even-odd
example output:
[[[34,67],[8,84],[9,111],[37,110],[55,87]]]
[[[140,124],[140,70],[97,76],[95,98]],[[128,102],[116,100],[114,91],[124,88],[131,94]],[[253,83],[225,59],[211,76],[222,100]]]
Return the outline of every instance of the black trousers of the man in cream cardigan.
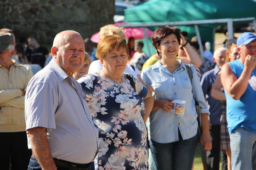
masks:
[[[26,132],[0,133],[1,170],[9,170],[10,160],[12,170],[28,169],[31,154]]]

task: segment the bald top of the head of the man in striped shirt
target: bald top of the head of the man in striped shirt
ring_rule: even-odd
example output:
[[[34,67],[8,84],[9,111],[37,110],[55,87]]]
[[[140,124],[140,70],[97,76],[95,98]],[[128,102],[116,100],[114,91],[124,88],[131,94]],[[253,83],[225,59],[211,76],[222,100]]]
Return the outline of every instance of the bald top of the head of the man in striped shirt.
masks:
[[[62,31],[62,32],[58,33],[53,40],[53,47],[60,48],[61,46],[68,43],[69,38],[74,37],[74,36],[76,36],[77,38],[79,38],[79,37],[82,38],[82,36],[78,32],[73,31],[73,30],[67,30],[67,31]]]

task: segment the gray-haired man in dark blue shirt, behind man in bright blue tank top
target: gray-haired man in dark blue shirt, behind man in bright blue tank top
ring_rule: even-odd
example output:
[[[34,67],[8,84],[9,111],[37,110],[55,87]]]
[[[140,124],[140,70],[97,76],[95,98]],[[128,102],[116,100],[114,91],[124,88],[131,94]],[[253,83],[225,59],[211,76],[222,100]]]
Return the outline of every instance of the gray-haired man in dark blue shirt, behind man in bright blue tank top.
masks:
[[[214,99],[211,96],[211,89],[213,83],[215,82],[216,76],[225,64],[226,60],[226,48],[221,47],[214,51],[213,62],[216,63],[214,69],[207,71],[202,75],[201,86],[203,89],[203,95],[210,105],[210,134],[212,136],[212,149],[207,152],[207,168],[208,170],[218,170],[219,169],[219,152],[221,147],[221,102]],[[208,98],[207,98],[208,96]],[[223,152],[223,151],[222,151]],[[224,152],[225,153],[225,152]],[[224,163],[224,160],[222,160]]]

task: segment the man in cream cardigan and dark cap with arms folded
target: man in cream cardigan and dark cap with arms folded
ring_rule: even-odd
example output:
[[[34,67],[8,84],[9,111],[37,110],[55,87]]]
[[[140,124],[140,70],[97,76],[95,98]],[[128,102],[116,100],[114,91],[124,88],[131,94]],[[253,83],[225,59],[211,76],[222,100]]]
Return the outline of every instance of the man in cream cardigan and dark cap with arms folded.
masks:
[[[2,31],[1,29],[1,32]],[[0,166],[26,169],[31,150],[27,147],[25,94],[32,71],[12,60],[14,36],[0,33]]]

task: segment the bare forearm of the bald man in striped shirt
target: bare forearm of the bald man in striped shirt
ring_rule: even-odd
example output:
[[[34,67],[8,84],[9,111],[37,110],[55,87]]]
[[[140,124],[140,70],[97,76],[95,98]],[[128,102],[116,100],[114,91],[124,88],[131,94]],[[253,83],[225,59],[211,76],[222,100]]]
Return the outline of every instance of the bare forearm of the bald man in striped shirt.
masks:
[[[37,159],[42,170],[57,170],[49,148],[45,128],[36,127],[27,130],[27,135],[32,147],[33,156]]]

